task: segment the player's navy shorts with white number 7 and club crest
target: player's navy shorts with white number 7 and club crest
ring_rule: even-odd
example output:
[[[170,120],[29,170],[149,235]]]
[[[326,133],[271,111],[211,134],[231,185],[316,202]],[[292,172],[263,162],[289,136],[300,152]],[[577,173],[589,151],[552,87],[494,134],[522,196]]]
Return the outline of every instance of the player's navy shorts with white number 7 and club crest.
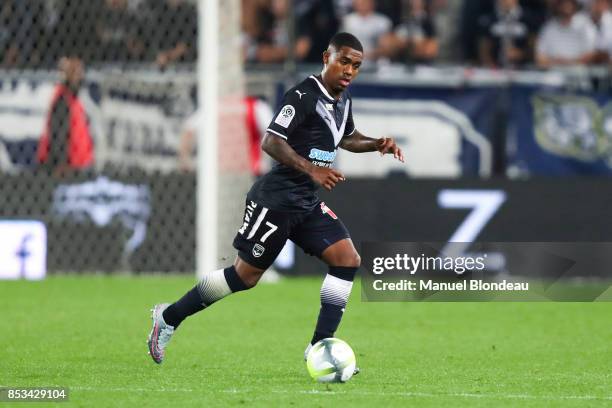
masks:
[[[348,230],[324,202],[310,212],[288,213],[247,200],[234,248],[245,262],[268,269],[287,239],[307,254],[320,258],[325,249],[345,238],[350,238]]]

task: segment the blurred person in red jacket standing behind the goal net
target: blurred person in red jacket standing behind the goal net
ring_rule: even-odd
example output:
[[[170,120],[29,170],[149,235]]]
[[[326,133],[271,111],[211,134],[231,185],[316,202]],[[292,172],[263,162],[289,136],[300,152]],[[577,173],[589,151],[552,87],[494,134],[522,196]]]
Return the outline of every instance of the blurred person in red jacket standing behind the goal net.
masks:
[[[55,88],[47,123],[38,144],[38,162],[55,175],[93,164],[93,141],[78,93],[83,62],[65,57],[59,62],[61,82]]]

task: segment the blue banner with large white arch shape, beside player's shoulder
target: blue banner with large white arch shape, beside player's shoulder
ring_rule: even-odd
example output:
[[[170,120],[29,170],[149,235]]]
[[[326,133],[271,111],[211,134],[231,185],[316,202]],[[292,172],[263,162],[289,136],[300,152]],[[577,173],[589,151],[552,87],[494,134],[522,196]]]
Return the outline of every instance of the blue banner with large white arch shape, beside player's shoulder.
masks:
[[[401,122],[393,129],[397,133],[391,136],[397,136],[400,141],[408,139],[408,161],[412,158],[422,163],[421,167],[414,169],[413,175],[491,175],[499,109],[498,88],[356,83],[351,87],[351,94],[355,101],[355,123],[359,129],[363,120],[367,125],[372,111],[378,111],[380,115],[379,128],[388,128],[394,118]],[[380,106],[365,101],[380,101]],[[411,157],[411,149],[415,148],[418,150]]]

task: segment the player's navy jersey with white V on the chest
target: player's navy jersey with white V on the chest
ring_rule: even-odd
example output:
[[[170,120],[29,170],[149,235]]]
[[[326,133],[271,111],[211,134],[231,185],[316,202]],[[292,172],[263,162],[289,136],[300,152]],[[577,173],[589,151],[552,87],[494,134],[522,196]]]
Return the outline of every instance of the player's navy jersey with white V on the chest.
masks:
[[[340,140],[355,132],[350,95],[335,100],[318,77],[310,76],[287,91],[267,131],[314,165],[331,167]],[[248,198],[276,211],[311,211],[319,202],[317,187],[308,175],[275,163]]]

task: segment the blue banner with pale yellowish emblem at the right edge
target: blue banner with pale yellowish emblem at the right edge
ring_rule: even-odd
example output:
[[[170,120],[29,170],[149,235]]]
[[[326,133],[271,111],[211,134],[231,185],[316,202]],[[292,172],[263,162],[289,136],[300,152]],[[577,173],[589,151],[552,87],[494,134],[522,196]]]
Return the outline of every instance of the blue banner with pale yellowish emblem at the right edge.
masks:
[[[507,154],[530,175],[611,175],[612,97],[514,85]]]

